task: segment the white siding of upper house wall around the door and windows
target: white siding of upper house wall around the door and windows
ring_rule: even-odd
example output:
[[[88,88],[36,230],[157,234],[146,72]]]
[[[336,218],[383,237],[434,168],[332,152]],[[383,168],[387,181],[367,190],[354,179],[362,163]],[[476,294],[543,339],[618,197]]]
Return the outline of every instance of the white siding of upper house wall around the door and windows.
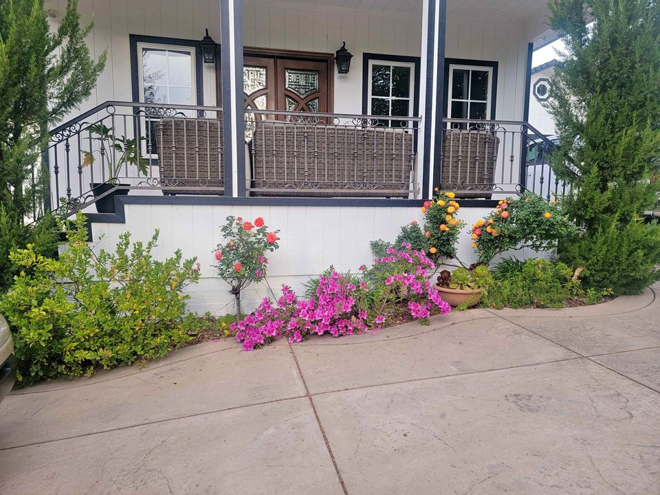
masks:
[[[322,2],[316,2],[322,3]],[[325,3],[331,3],[326,1]],[[386,5],[380,9],[378,4]],[[246,47],[334,53],[346,41],[353,53],[349,74],[334,74],[334,111],[362,113],[362,55],[420,56],[421,1],[342,1],[342,8],[294,1],[245,0]],[[56,28],[66,0],[47,0]],[[367,9],[369,8],[369,10]],[[132,100],[129,34],[201,39],[204,30],[219,41],[219,0],[80,0],[83,23],[94,21],[87,38],[91,54],[107,50],[107,65],[80,111],[107,100]],[[529,33],[521,23],[472,21],[465,12],[447,18],[445,56],[498,62],[496,118],[519,120],[525,89]],[[203,67],[203,101],[216,104],[212,65]]]

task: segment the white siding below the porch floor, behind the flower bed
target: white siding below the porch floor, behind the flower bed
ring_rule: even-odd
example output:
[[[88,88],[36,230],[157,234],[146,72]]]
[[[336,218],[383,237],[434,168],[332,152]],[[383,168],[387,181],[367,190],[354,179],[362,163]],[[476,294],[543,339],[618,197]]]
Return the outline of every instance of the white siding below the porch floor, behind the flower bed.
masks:
[[[125,208],[126,223],[92,224],[94,239],[103,236],[98,249],[113,250],[122,232],[131,232],[133,241],[146,241],[158,229],[155,257],[164,259],[177,249],[185,258],[197,256],[201,280],[189,289],[190,309],[215,314],[230,312],[233,300],[228,286],[217,278],[212,267],[216,263],[212,251],[222,242],[219,225],[230,214],[250,221],[263,217],[269,229],[280,230],[279,250],[267,255],[268,283],[276,293],[286,284],[298,294],[303,293],[305,281],[330,265],[340,272],[353,273],[363,263],[371,265],[370,241],[394,241],[401,225],[423,221],[419,208],[135,204]],[[459,256],[467,263],[476,261],[467,229],[488,212],[488,208],[462,208],[459,212],[459,218],[467,223],[460,236]],[[250,286],[243,292],[245,309],[254,309],[267,296],[270,291],[264,283]]]

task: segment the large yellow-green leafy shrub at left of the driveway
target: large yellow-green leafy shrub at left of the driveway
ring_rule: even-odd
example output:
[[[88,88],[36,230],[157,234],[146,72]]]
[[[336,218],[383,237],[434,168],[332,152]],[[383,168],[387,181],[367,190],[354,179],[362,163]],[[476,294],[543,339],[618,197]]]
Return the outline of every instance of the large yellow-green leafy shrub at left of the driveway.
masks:
[[[195,259],[182,261],[177,250],[155,261],[157,231],[132,246],[122,234],[115,253],[95,254],[82,214],[61,226],[68,248],[59,259],[33,245],[10,255],[23,270],[0,311],[12,327],[23,384],[159,358],[190,340],[198,319],[186,316],[181,292],[199,278]]]

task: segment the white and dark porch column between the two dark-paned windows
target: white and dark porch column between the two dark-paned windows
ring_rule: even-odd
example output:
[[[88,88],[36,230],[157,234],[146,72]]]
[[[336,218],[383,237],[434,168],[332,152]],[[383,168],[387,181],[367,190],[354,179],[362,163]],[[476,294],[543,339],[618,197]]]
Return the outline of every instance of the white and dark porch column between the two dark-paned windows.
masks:
[[[446,17],[447,0],[423,0],[419,91],[423,146],[418,155],[423,174],[422,198],[431,197],[434,184],[440,181]]]

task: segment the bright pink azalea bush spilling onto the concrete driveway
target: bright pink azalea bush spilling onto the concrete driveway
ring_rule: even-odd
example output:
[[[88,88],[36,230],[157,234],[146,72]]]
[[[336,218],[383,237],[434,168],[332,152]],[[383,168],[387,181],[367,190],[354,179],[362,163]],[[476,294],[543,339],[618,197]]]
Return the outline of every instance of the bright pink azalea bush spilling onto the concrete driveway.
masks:
[[[358,285],[332,272],[320,277],[314,298],[299,298],[283,287],[275,303],[265,298],[256,311],[232,324],[236,340],[251,351],[281,338],[300,342],[314,334],[339,337],[373,332],[385,324],[386,311],[401,303],[407,303],[413,318],[428,318],[433,307],[448,314],[450,306],[429,282],[434,263],[423,251],[411,250],[408,243],[401,247],[388,249],[373,268],[361,267],[364,273]]]

